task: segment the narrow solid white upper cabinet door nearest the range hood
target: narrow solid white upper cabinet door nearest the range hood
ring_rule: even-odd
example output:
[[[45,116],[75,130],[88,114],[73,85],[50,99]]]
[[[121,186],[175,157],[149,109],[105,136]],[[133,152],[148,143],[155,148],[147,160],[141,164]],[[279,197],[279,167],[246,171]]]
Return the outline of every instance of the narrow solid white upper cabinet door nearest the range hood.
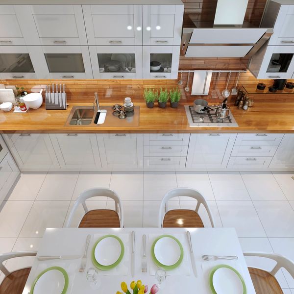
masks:
[[[143,45],[180,46],[184,5],[143,5]]]

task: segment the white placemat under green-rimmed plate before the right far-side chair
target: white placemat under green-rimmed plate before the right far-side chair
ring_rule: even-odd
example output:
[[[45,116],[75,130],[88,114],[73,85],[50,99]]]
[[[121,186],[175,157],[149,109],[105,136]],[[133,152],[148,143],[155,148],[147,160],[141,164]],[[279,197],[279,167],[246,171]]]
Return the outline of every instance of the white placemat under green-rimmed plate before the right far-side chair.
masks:
[[[158,270],[157,265],[155,265],[155,263],[152,260],[151,257],[151,246],[153,244],[153,242],[155,241],[156,238],[162,236],[163,234],[149,234],[149,238],[148,238],[148,246],[147,248],[149,249],[149,252],[147,252],[147,258],[148,258],[148,263],[149,263],[149,274],[150,275],[155,275],[156,270]],[[181,262],[180,266],[177,267],[174,270],[168,270],[167,271],[167,275],[190,275],[190,264],[191,261],[189,260],[188,256],[188,243],[187,243],[187,238],[186,238],[186,234],[171,234],[171,236],[175,237],[176,239],[178,239],[180,241],[180,243],[183,246],[183,250],[184,250],[184,256],[183,256],[183,261]],[[189,264],[190,262],[190,264]]]

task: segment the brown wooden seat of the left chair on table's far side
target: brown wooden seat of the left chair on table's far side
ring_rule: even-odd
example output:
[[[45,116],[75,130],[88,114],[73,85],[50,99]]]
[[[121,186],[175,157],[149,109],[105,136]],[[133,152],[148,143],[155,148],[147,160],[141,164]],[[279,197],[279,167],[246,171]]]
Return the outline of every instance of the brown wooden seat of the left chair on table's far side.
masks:
[[[119,215],[110,209],[95,209],[88,211],[82,218],[79,228],[119,228]]]

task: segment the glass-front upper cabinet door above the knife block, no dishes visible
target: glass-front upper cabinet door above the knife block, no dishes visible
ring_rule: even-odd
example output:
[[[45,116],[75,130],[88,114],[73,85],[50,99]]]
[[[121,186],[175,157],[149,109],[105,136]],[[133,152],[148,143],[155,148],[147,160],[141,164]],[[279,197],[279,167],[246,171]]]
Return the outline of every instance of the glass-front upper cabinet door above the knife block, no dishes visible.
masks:
[[[43,46],[45,78],[93,78],[87,46]]]

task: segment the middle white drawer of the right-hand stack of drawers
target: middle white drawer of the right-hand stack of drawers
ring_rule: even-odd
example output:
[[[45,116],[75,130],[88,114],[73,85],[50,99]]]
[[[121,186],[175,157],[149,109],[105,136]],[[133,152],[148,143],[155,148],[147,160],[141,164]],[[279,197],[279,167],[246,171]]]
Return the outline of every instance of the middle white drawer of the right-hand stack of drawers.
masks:
[[[231,156],[273,156],[278,145],[235,145]]]

